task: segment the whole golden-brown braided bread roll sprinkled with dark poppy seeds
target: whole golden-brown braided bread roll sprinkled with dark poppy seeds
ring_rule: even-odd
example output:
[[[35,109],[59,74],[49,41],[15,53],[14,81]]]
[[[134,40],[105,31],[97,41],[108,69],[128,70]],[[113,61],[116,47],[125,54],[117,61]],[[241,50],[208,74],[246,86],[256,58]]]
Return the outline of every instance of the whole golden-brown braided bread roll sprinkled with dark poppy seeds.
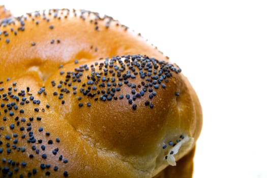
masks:
[[[1,177],[192,176],[199,100],[139,34],[63,9],[3,19],[0,39]]]

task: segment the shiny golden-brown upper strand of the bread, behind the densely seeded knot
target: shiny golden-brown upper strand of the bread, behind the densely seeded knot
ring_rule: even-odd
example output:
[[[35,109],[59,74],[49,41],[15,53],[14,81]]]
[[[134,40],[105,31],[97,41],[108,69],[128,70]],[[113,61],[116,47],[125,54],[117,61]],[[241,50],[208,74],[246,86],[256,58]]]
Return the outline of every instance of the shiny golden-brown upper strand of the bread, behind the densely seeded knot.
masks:
[[[18,76],[21,71],[36,66],[46,79],[61,64],[80,58],[96,60],[140,53],[159,60],[166,59],[160,51],[147,45],[142,37],[111,17],[101,18],[97,13],[88,11],[82,14],[83,18],[80,15],[80,11],[49,10],[27,14],[26,19],[20,17],[3,21],[0,49],[12,51],[1,57],[3,73]],[[8,35],[4,36],[4,31]],[[17,64],[20,64],[21,71],[9,70]]]

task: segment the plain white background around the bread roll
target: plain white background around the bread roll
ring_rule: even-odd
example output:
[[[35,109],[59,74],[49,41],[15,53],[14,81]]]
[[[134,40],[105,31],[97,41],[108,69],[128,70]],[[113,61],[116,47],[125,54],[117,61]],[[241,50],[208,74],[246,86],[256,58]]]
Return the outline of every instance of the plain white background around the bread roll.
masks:
[[[267,177],[266,1],[0,1],[113,16],[182,68],[203,108],[194,177]]]

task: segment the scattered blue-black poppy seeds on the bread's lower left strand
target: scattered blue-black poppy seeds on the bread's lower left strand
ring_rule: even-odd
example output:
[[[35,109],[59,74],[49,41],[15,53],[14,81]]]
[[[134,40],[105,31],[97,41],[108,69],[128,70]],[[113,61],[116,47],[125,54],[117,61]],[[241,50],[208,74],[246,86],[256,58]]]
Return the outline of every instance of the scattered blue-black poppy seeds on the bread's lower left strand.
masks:
[[[9,78],[7,79],[10,80]],[[63,155],[59,155],[58,146],[61,142],[60,138],[56,137],[54,140],[50,137],[50,133],[45,131],[43,127],[39,127],[38,132],[34,132],[33,129],[36,125],[42,125],[42,118],[36,116],[38,114],[34,112],[39,112],[40,100],[36,99],[38,96],[34,96],[31,92],[31,88],[28,86],[25,90],[20,90],[16,87],[16,82],[14,81],[11,86],[3,87],[1,86],[4,82],[0,82],[0,176],[19,176],[28,177],[37,174],[38,167],[28,167],[27,160],[16,161],[12,159],[18,157],[18,154],[23,154],[27,152],[29,159],[35,159],[36,157],[41,157],[44,162],[47,162],[48,157],[53,157],[53,159],[60,160],[61,163],[54,165],[53,170],[49,169],[53,164],[40,163],[39,167],[44,170],[45,175],[53,175],[53,171],[60,169],[60,164],[68,163],[68,159],[64,158]],[[44,88],[40,89],[41,93],[44,93]],[[40,95],[40,91],[36,95]],[[32,111],[32,117],[23,117],[25,111],[23,108],[27,105],[36,105]],[[49,108],[49,105],[46,105]],[[41,109],[45,112],[45,109]],[[7,121],[11,121],[11,124],[7,124]],[[13,122],[12,122],[13,121]],[[48,140],[44,142],[42,138]],[[23,141],[24,140],[24,141]],[[26,143],[25,143],[26,142]],[[25,145],[23,145],[25,144]],[[46,151],[47,146],[53,146],[54,149],[51,153]],[[1,156],[6,152],[6,157]],[[24,154],[23,154],[24,155]],[[25,155],[24,155],[25,156]],[[38,166],[38,165],[36,165]],[[26,175],[20,173],[20,170],[28,172]],[[66,170],[61,170],[64,176],[68,176]],[[23,171],[24,172],[24,171]]]

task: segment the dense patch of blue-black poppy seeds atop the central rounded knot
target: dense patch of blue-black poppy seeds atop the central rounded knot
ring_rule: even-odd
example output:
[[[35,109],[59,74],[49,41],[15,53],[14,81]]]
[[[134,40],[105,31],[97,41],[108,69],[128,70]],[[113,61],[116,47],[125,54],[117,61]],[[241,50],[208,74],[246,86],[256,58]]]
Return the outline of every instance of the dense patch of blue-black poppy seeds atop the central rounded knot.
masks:
[[[78,64],[77,61],[75,64]],[[51,81],[55,88],[53,96],[61,100],[61,104],[66,104],[64,96],[73,94],[77,96],[79,107],[90,107],[96,101],[125,99],[132,104],[133,110],[138,108],[135,100],[142,97],[146,97],[143,105],[153,108],[152,101],[157,96],[157,90],[165,90],[172,73],[181,72],[180,68],[165,61],[138,54],[106,58],[105,61],[90,66],[80,65],[73,71],[61,69],[60,75],[66,74],[65,78]],[[136,77],[142,79],[140,83],[135,82]],[[120,92],[122,87],[129,87],[131,92],[123,95]],[[173,95],[179,96],[179,93],[175,92]],[[82,102],[84,98],[87,99]]]

